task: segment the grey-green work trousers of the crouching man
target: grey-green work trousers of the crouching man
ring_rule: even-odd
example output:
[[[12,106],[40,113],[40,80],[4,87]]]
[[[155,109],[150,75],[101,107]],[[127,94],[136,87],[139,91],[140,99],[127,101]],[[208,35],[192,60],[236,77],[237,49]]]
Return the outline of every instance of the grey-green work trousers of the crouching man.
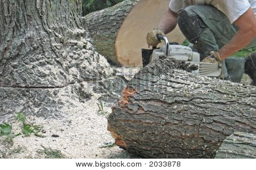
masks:
[[[185,8],[188,14],[198,15],[204,21],[208,28],[205,28],[199,36],[194,48],[200,53],[201,59],[209,56],[211,51],[218,51],[227,44],[236,34],[237,28],[230,24],[227,16],[217,8],[209,5],[188,6]],[[256,45],[254,39],[247,47]],[[245,70],[245,58],[228,57],[222,62],[223,77],[230,76],[232,82],[241,82]]]

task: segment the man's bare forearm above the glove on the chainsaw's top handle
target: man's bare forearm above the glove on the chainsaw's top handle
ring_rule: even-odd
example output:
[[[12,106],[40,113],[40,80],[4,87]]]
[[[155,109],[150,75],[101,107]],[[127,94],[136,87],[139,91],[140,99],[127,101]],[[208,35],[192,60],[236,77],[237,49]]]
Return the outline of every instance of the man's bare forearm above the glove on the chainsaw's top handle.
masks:
[[[160,20],[158,29],[160,29],[165,34],[167,34],[172,30],[174,30],[176,25],[177,25],[177,13],[170,10],[170,8],[168,8],[168,10],[164,13],[162,19]]]

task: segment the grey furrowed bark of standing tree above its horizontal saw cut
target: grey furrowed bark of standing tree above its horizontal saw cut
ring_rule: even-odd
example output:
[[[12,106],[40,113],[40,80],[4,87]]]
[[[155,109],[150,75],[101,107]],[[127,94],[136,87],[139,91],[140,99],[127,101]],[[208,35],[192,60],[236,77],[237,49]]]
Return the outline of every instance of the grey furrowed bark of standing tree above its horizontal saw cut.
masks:
[[[0,86],[64,87],[108,77],[82,27],[81,1],[0,2]]]

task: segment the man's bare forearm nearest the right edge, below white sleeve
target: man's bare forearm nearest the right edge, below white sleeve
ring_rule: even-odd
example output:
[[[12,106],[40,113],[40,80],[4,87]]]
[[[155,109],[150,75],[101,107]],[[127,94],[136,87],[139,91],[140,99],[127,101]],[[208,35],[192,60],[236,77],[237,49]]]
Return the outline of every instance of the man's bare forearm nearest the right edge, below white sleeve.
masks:
[[[250,44],[256,36],[256,19],[251,8],[241,15],[234,24],[238,27],[238,32],[228,44],[224,45],[219,51],[220,58],[223,60]]]

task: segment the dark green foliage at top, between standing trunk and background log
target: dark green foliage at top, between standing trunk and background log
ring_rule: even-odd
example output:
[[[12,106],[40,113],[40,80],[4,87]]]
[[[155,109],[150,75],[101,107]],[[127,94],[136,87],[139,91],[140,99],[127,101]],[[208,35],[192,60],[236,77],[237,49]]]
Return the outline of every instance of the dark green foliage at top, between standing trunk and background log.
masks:
[[[123,0],[83,0],[82,1],[82,15],[89,14],[93,11],[102,10],[113,6]]]

